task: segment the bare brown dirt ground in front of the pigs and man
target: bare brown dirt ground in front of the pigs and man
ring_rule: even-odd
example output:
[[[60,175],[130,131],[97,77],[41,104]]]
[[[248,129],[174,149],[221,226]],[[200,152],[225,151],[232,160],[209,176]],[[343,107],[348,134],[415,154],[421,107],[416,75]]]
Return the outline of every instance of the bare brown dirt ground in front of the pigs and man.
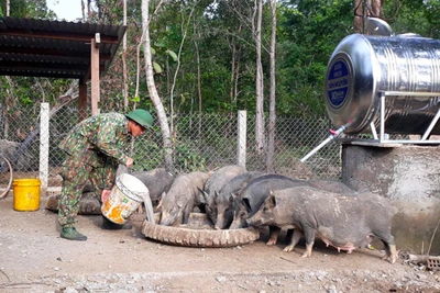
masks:
[[[233,248],[164,245],[141,233],[143,214],[131,230],[102,230],[101,216],[78,216],[89,238],[59,238],[56,214],[45,199],[35,212],[0,200],[0,292],[440,292],[440,272],[381,260],[383,251],[338,252],[317,241],[311,258],[304,244],[284,252],[280,239]],[[377,246],[378,248],[382,248]]]

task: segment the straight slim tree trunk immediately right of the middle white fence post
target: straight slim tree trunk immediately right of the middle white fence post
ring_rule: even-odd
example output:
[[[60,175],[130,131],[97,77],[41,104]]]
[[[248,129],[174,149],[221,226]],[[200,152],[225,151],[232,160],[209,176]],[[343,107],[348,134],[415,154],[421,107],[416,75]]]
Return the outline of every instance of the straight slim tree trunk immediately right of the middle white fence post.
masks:
[[[257,13],[256,25],[254,27],[254,40],[256,48],[256,110],[255,110],[255,144],[256,151],[264,154],[264,84],[263,84],[263,65],[262,65],[262,43],[261,29],[263,20],[263,0],[255,0],[255,10]]]

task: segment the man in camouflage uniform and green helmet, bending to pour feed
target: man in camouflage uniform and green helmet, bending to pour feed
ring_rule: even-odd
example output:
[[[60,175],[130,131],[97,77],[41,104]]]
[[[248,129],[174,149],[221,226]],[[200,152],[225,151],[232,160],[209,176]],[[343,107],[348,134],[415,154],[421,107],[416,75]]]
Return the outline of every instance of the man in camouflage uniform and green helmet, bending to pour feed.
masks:
[[[109,196],[114,184],[118,165],[133,167],[133,159],[125,154],[131,136],[152,127],[153,117],[145,110],[134,110],[123,115],[106,113],[89,117],[76,125],[61,143],[67,158],[63,162],[63,190],[58,204],[61,237],[87,240],[75,228],[82,189],[89,179],[100,202]]]

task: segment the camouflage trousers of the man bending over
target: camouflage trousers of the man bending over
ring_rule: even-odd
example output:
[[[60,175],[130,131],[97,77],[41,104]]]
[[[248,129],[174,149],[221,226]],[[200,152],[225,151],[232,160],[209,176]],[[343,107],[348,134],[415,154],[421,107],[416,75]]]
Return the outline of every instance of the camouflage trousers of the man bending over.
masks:
[[[79,211],[79,201],[87,180],[90,180],[95,188],[95,194],[98,201],[101,202],[105,182],[111,181],[114,183],[117,168],[118,166],[112,161],[97,168],[85,164],[81,158],[67,156],[61,172],[63,189],[58,202],[58,223],[62,227],[75,226],[75,217]]]

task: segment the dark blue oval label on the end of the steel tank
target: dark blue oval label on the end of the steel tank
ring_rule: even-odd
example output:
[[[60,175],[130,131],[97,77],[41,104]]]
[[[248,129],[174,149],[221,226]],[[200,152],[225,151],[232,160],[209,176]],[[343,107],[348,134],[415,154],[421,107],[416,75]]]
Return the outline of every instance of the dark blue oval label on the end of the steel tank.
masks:
[[[344,59],[337,59],[327,78],[327,98],[331,106],[340,108],[349,93],[349,66]]]

